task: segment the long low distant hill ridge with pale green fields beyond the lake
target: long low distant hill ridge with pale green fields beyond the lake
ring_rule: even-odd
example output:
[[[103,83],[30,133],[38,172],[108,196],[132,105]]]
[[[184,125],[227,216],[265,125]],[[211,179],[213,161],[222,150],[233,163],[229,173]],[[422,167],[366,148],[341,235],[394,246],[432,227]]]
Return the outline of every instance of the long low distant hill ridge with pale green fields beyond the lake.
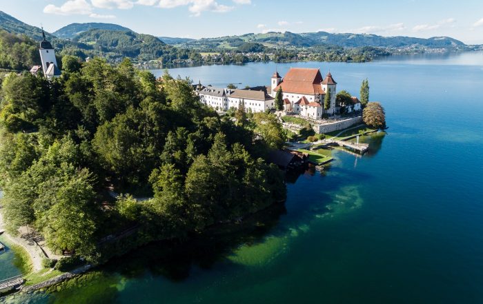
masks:
[[[165,41],[166,42],[166,41]],[[168,42],[167,42],[168,43]],[[375,34],[332,34],[328,32],[268,32],[264,34],[244,34],[177,43],[189,48],[238,48],[244,43],[262,43],[266,47],[311,47],[314,45],[337,45],[344,48],[372,46],[378,48],[401,48],[420,45],[427,48],[457,48],[465,46],[462,41],[450,37],[432,37],[429,39],[415,37],[383,37]]]

